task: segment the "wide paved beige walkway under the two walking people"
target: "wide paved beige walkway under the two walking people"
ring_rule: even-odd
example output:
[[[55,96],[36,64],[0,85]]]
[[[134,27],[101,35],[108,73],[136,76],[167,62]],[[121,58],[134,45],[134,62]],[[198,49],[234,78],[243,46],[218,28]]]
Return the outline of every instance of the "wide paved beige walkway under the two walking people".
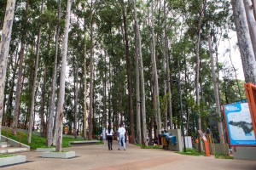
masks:
[[[126,150],[113,150],[107,144],[72,147],[72,159],[42,158],[36,151],[23,152],[27,162],[1,169],[19,170],[77,170],[77,169],[173,169],[173,170],[256,170],[256,161],[215,159],[213,156],[183,156],[170,150],[150,150],[127,144]]]

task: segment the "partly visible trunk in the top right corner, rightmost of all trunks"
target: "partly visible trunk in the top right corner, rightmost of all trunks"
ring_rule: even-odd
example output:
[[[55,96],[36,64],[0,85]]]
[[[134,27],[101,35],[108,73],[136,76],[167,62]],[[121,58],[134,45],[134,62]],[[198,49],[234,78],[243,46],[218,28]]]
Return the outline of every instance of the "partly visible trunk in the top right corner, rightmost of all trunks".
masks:
[[[253,14],[253,0],[243,0],[247,14],[247,23],[250,31],[250,37],[253,44],[254,57],[256,59],[256,18]]]

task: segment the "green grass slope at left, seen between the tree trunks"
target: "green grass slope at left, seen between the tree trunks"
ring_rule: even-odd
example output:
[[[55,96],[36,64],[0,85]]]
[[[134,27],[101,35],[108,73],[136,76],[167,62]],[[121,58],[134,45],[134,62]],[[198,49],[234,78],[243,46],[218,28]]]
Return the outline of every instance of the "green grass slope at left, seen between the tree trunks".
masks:
[[[6,130],[2,130],[1,132],[4,136],[7,136],[7,132]],[[22,134],[22,138],[20,140],[20,137],[17,135],[13,135],[12,133],[9,133],[8,138],[10,139],[14,139],[16,141],[20,141],[22,144],[26,144],[30,146],[31,150],[36,150],[37,148],[45,148],[46,146],[46,139],[37,135],[32,135],[32,143],[31,144],[27,144],[27,133],[21,133]],[[62,147],[69,147],[68,146],[68,142],[69,141],[81,141],[84,139],[73,139],[73,138],[68,138],[68,137],[63,137],[62,138]]]

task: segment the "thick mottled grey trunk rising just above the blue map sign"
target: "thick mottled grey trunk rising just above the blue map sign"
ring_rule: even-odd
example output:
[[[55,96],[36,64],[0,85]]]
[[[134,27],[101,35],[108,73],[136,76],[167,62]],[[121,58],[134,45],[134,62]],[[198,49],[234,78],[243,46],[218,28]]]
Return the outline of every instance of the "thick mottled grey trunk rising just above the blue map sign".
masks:
[[[243,2],[240,0],[231,1],[233,15],[236,25],[241,63],[244,72],[245,82],[256,84],[256,60],[253,53],[253,45],[249,35],[246,12]]]

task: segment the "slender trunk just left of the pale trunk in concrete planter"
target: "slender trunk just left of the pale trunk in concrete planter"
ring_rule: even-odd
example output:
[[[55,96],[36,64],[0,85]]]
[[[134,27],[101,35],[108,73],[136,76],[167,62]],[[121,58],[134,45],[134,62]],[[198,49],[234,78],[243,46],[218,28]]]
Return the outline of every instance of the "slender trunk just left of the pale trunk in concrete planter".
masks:
[[[59,50],[59,37],[60,37],[60,29],[61,29],[61,0],[58,0],[58,21],[56,27],[55,34],[55,63],[52,72],[52,82],[51,82],[51,92],[50,92],[50,102],[49,102],[49,114],[47,120],[47,138],[46,145],[49,147],[50,145],[56,143],[55,136],[56,130],[53,133],[54,127],[54,112],[55,112],[55,93],[56,93],[56,77],[57,77],[57,61],[58,61],[58,50]],[[55,116],[55,124],[57,123],[57,119]],[[56,128],[55,128],[56,129]]]

